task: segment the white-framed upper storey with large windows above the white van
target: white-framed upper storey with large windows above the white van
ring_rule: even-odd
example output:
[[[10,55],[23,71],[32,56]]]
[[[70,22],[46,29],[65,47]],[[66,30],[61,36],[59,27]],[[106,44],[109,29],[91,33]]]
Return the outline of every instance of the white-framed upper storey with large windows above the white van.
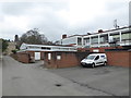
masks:
[[[100,30],[90,35],[73,35],[60,40],[61,45],[73,45],[76,48],[96,48],[131,45],[131,28],[122,27],[111,30]]]

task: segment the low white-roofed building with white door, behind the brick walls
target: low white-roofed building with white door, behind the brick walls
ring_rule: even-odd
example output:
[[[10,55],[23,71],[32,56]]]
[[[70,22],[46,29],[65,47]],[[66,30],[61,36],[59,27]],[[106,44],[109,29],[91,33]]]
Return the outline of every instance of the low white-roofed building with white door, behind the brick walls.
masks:
[[[35,60],[43,60],[46,51],[76,51],[75,47],[22,44],[19,52],[29,53]]]

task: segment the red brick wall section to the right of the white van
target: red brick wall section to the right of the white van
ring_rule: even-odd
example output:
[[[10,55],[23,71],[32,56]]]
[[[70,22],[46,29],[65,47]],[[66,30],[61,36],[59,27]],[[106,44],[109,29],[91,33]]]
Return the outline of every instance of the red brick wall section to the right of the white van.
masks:
[[[131,66],[131,51],[106,51],[108,65]]]

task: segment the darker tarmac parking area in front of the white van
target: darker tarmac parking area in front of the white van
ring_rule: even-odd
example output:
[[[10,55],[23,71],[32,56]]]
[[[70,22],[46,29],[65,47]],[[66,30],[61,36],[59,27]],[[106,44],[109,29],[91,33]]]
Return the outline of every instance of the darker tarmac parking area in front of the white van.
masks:
[[[111,96],[129,95],[129,69],[120,66],[49,69],[51,73],[79,84],[78,89],[87,93],[88,88]]]

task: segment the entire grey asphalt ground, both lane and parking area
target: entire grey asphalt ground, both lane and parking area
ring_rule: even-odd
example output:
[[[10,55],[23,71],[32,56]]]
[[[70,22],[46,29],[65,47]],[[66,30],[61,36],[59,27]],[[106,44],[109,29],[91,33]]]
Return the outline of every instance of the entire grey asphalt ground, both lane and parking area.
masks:
[[[116,66],[45,69],[3,57],[3,96],[127,96],[129,70]],[[59,84],[61,86],[59,86]],[[58,85],[58,86],[56,86]]]

